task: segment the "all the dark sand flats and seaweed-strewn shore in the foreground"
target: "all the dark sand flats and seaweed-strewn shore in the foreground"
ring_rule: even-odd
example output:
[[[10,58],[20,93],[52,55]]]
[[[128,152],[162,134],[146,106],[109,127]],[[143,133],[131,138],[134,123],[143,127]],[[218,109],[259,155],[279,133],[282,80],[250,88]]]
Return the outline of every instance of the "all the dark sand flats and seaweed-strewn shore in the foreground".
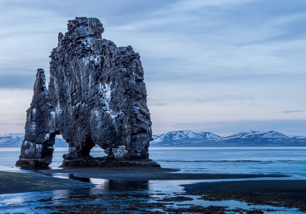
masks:
[[[69,174],[82,178],[110,180],[193,180],[199,183],[182,184],[185,192],[180,193],[148,193],[147,189],[137,188],[136,192],[108,194],[78,195],[56,198],[48,202],[35,202],[35,209],[44,213],[263,213],[271,208],[237,208],[227,206],[201,206],[193,201],[227,201],[235,200],[248,205],[267,205],[282,210],[280,207],[297,208],[306,212],[305,180],[243,180],[218,181],[213,179],[249,179],[289,177],[280,174],[205,174],[180,173],[177,170],[164,168],[124,167],[124,168],[64,168],[40,170],[39,174],[0,172],[2,183],[0,194],[50,191],[70,189],[80,192],[94,186],[91,183],[61,179],[46,175]],[[203,182],[203,180],[209,182]],[[183,183],[183,182],[182,182]],[[75,189],[75,190],[73,190]],[[273,203],[271,202],[273,201]],[[44,204],[45,203],[45,204]],[[69,212],[68,212],[69,211]]]

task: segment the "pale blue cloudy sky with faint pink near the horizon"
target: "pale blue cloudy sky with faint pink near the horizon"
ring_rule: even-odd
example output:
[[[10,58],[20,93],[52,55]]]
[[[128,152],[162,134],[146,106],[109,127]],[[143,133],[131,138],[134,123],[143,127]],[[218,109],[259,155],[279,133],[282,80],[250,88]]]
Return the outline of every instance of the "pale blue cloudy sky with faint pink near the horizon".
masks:
[[[0,135],[24,132],[68,20],[140,53],[153,134],[306,136],[305,0],[0,0]]]

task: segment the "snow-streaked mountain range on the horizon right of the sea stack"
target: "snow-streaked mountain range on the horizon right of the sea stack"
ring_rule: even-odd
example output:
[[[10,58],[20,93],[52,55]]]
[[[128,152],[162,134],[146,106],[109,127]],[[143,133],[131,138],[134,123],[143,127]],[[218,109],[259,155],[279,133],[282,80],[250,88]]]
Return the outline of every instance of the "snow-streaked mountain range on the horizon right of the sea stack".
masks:
[[[211,132],[171,131],[153,135],[151,146],[306,146],[306,137],[286,136],[278,131],[247,131],[228,137]]]

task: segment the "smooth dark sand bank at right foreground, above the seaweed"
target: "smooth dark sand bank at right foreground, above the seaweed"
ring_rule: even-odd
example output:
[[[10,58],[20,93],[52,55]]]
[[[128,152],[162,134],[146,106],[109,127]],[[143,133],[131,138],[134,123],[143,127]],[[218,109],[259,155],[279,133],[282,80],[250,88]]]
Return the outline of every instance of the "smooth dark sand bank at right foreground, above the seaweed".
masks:
[[[297,208],[306,212],[306,180],[201,182],[181,186],[186,194],[199,195],[207,201],[237,200],[248,205]]]

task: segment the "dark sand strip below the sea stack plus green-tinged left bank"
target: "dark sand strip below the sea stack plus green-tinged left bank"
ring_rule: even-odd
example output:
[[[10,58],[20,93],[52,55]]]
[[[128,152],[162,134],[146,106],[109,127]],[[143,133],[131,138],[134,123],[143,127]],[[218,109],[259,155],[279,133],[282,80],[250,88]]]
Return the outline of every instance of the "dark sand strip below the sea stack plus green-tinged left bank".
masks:
[[[165,168],[121,167],[121,168],[63,168],[40,170],[49,173],[71,174],[75,177],[98,178],[110,180],[203,180],[203,179],[242,179],[263,177],[284,177],[286,175],[254,175],[254,174],[205,174],[179,173],[177,170]],[[61,189],[77,189],[93,186],[73,179],[62,179],[32,173],[0,172],[0,194],[47,191]],[[251,185],[251,184],[248,184]]]

